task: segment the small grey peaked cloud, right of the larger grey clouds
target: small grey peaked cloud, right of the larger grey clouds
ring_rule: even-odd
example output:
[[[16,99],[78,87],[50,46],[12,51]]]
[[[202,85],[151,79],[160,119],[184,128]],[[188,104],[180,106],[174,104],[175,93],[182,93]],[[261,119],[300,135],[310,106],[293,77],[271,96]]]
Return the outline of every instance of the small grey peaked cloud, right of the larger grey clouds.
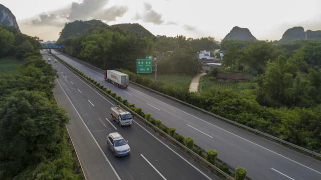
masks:
[[[162,19],[162,15],[152,9],[152,5],[150,3],[144,3],[145,10],[142,14],[138,12],[132,18],[133,20],[143,20],[144,22],[152,22],[154,24],[162,24],[164,20]]]

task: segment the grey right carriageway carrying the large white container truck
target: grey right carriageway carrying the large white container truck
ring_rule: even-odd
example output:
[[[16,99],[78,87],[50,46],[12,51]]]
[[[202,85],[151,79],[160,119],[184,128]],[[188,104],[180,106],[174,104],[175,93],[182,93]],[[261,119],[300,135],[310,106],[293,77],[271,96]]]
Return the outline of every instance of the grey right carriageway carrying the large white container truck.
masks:
[[[126,89],[115,87],[104,80],[103,71],[63,54],[57,55],[136,107],[142,107],[143,112],[150,112],[153,118],[175,127],[179,134],[191,136],[203,149],[216,149],[220,159],[233,167],[244,167],[252,179],[321,179],[319,160],[133,84]]]

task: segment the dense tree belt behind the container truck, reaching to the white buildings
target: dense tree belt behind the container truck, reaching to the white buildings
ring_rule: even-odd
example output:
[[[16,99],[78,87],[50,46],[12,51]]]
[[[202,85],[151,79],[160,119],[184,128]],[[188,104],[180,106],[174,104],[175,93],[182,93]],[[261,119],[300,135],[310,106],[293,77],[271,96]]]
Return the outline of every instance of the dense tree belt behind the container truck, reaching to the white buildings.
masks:
[[[77,21],[76,24],[78,23],[80,22]],[[71,30],[71,25],[75,26],[74,22],[66,24],[62,32]],[[87,28],[78,37],[64,35],[57,45],[64,45],[65,53],[102,69],[125,68],[136,71],[136,59],[153,55],[158,56],[159,73],[189,75],[201,69],[201,63],[195,56],[197,51],[218,47],[213,37],[186,39],[183,35],[177,35],[156,38],[149,33],[144,35],[146,29],[142,29],[144,28],[139,24],[96,25]]]

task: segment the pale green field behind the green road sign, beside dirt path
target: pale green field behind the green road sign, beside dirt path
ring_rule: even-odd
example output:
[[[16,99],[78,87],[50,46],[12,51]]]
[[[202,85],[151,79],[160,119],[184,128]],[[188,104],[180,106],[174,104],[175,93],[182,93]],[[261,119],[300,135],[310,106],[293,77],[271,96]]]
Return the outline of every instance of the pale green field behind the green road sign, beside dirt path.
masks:
[[[142,74],[155,80],[155,73]],[[183,86],[189,88],[192,76],[185,74],[157,74],[157,81],[164,81],[166,84],[173,86]]]

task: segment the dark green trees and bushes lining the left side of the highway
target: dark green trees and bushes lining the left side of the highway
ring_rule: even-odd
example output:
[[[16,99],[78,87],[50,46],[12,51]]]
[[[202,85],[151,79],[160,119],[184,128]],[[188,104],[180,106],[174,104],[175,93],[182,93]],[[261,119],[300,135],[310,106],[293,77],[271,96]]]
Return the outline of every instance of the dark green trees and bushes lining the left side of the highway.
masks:
[[[84,179],[36,37],[0,25],[0,179]]]

